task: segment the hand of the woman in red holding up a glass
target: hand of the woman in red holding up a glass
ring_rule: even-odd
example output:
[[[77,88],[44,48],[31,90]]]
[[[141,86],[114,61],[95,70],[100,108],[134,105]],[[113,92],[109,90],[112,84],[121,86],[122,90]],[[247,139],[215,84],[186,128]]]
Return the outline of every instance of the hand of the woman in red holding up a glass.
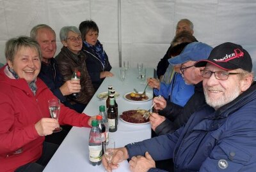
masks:
[[[42,118],[35,124],[35,128],[39,136],[47,136],[52,134],[52,131],[60,127],[58,120],[54,118]]]

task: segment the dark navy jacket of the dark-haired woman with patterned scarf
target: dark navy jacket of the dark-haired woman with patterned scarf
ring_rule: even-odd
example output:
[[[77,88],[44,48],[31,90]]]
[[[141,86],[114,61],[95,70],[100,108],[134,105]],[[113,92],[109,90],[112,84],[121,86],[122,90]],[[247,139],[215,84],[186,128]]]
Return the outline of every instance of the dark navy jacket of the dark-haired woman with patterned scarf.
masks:
[[[110,71],[111,65],[108,61],[108,55],[104,51],[106,55],[106,61],[105,66],[102,64],[102,62],[97,57],[97,54],[95,54],[90,48],[83,45],[82,48],[83,52],[86,54],[86,67],[87,71],[91,77],[93,87],[95,91],[100,87],[100,84],[103,82],[104,78],[100,78],[100,72],[102,71]]]

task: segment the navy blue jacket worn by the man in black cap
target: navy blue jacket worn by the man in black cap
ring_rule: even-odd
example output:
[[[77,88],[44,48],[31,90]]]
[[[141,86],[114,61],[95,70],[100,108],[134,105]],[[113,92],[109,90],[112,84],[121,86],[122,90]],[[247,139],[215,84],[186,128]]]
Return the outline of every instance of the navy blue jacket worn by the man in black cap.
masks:
[[[148,151],[155,161],[173,158],[174,171],[255,171],[256,84],[218,110],[206,106],[184,127],[127,145],[129,158]],[[161,171],[152,168],[149,171]]]

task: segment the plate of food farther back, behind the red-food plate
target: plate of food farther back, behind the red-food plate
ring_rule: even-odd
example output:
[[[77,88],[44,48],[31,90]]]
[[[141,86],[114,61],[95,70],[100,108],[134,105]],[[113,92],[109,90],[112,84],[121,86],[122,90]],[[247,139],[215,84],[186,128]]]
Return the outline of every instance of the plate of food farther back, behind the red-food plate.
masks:
[[[133,102],[143,102],[143,101],[149,101],[153,98],[153,95],[146,92],[146,94],[142,94],[143,92],[128,92],[124,95],[124,99],[127,101],[133,101]]]

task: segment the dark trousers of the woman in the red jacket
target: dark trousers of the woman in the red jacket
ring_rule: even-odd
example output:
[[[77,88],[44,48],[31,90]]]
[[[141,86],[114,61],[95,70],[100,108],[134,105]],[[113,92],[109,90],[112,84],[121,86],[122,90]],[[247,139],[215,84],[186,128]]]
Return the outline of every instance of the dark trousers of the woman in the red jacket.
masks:
[[[15,172],[40,172],[43,171],[45,166],[48,164],[48,162],[51,160],[52,156],[58,149],[58,145],[53,143],[48,143],[44,141],[43,144],[43,154],[36,162],[31,162],[28,164],[25,164],[24,166],[20,166],[15,170]]]

